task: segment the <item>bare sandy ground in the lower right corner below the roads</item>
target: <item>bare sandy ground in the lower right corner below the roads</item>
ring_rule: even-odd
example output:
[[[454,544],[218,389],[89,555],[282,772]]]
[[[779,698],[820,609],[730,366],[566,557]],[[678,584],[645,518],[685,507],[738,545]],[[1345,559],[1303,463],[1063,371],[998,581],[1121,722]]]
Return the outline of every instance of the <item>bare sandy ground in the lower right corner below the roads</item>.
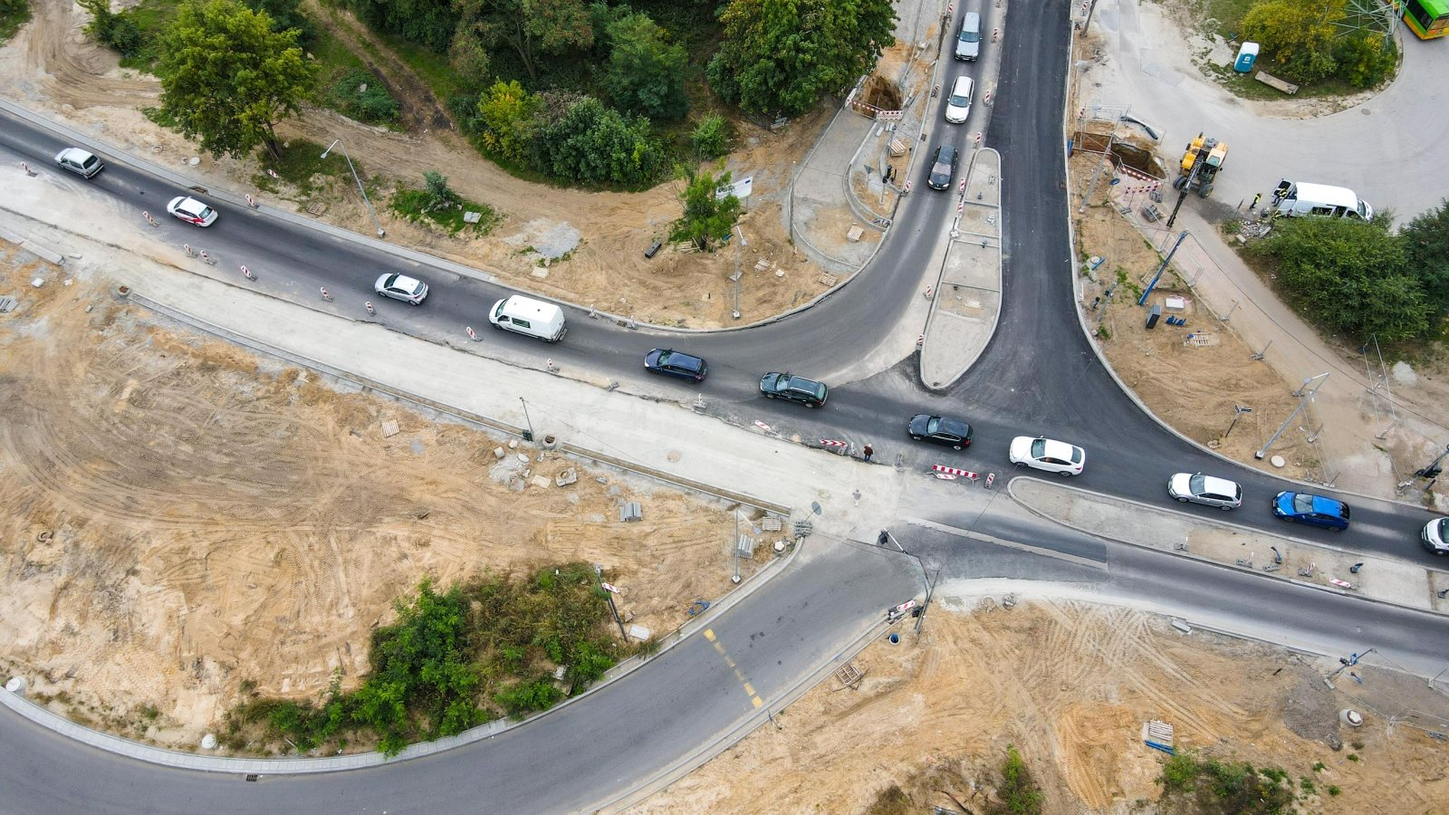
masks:
[[[853,664],[865,674],[858,687],[826,680],[777,713],[778,728],[632,812],[862,812],[891,783],[914,812],[980,812],[1007,744],[1042,786],[1046,812],[1155,812],[1164,756],[1142,744],[1149,719],[1171,724],[1178,747],[1278,766],[1295,786],[1313,779],[1307,812],[1443,812],[1449,799],[1443,745],[1423,729],[1372,713],[1361,729],[1340,728],[1339,709],[1364,711],[1364,699],[1329,692],[1300,657],[1201,631],[1184,638],[1142,612],[987,600],[972,613],[933,612],[919,641],[906,628],[901,644],[881,640]],[[1385,698],[1414,693],[1395,674],[1364,679]],[[1387,709],[1443,715],[1445,698],[1417,684]],[[1329,785],[1342,793],[1329,796]]]

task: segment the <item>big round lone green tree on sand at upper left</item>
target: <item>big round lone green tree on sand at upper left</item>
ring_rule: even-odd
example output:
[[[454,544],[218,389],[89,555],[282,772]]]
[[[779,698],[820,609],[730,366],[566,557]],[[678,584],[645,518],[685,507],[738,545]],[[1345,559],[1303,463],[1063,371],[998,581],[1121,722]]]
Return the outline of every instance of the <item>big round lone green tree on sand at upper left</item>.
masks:
[[[281,155],[277,122],[300,110],[316,68],[297,30],[235,0],[181,6],[161,39],[161,117],[213,157],[243,155],[258,144]]]

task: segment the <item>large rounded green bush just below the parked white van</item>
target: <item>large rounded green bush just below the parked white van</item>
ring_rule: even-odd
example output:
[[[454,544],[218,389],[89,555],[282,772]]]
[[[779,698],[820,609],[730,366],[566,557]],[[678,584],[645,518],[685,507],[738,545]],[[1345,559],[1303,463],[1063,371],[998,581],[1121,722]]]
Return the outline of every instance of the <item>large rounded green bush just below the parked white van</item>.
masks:
[[[1395,342],[1429,329],[1435,307],[1408,273],[1404,241],[1379,223],[1284,219],[1261,248],[1288,294],[1330,331]]]

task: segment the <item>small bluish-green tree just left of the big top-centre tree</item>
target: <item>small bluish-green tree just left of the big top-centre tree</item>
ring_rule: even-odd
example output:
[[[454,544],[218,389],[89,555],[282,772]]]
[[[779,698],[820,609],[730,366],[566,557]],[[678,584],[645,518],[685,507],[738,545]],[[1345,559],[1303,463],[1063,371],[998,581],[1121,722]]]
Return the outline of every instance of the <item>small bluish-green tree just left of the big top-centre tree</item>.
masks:
[[[629,15],[609,25],[609,67],[604,88],[626,113],[651,119],[680,119],[690,112],[684,94],[688,54],[669,45],[649,15]]]

